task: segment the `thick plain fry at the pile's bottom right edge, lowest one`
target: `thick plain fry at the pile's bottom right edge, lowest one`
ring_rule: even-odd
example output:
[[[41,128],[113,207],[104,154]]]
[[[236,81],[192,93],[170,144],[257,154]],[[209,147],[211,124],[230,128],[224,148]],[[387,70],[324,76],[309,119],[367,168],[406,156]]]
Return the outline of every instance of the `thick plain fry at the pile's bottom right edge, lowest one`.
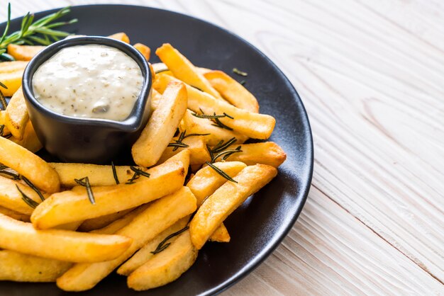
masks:
[[[187,230],[180,234],[165,251],[156,254],[131,273],[127,280],[128,287],[143,291],[171,283],[194,264],[197,253]]]

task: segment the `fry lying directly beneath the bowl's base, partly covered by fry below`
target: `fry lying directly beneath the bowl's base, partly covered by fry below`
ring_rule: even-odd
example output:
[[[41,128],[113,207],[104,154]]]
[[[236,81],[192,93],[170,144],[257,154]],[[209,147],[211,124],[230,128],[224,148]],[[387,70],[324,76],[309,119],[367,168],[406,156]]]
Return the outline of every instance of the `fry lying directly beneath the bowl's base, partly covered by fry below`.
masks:
[[[70,164],[56,163],[49,164],[60,177],[60,184],[65,188],[72,188],[78,184],[74,179],[81,179],[88,176],[91,186],[111,186],[116,185],[112,166],[101,166],[98,164]],[[130,166],[115,166],[119,183],[125,183],[134,174]],[[140,168],[145,170],[143,168]]]

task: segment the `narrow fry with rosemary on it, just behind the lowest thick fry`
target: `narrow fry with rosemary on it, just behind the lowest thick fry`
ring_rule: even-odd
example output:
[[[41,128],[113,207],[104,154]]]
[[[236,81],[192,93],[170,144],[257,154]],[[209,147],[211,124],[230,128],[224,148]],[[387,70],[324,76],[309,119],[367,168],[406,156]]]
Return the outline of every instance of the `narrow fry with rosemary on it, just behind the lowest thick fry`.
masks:
[[[168,236],[171,234],[174,234],[176,232],[179,232],[181,229],[184,229],[184,227],[187,226],[189,222],[189,217],[184,217],[181,220],[177,221],[176,223],[172,224],[172,226],[165,229],[161,234],[157,235],[154,239],[148,241],[145,246],[143,246],[142,249],[137,251],[131,258],[128,259],[125,263],[121,265],[121,267],[118,268],[117,273],[119,275],[129,275],[133,271],[135,271],[137,268],[142,266],[145,262],[150,260],[154,254],[152,254],[152,251],[155,251],[157,249],[157,246]],[[176,237],[172,237],[171,239],[168,239],[169,243],[172,243]]]

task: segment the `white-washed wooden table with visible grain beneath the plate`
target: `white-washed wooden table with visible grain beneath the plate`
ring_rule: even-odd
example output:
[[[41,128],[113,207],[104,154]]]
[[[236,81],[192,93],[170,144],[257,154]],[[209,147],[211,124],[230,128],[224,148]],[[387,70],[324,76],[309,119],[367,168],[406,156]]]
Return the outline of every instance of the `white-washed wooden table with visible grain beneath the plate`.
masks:
[[[12,2],[13,16],[110,2],[187,13],[287,74],[313,129],[313,186],[288,237],[223,295],[444,295],[443,1]]]

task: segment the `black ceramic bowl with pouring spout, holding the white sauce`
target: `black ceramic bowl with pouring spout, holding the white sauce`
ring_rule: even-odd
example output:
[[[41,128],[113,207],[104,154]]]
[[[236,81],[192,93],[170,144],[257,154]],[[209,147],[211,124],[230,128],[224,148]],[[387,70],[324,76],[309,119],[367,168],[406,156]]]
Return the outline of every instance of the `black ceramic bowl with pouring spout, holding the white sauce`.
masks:
[[[138,63],[143,86],[131,114],[123,121],[74,118],[45,108],[34,96],[33,75],[62,48],[74,45],[107,45],[125,52]],[[23,74],[23,95],[35,133],[50,154],[62,161],[103,164],[137,140],[150,116],[152,77],[145,57],[134,47],[111,38],[88,36],[61,40],[38,53]]]

